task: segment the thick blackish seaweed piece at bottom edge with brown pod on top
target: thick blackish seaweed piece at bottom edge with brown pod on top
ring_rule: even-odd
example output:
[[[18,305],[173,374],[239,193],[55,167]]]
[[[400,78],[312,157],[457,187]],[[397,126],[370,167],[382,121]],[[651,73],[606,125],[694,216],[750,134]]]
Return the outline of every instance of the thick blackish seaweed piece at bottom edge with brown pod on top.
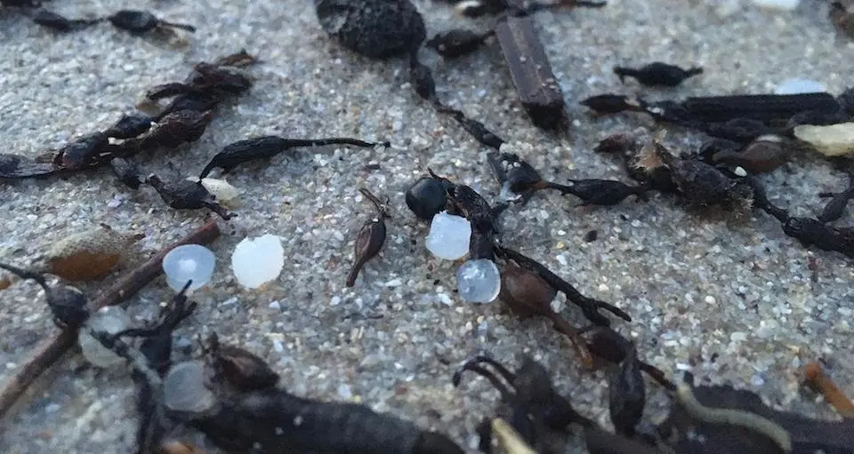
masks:
[[[276,387],[278,375],[261,358],[235,346],[208,351],[213,372],[205,380],[215,402],[169,415],[205,433],[222,450],[290,452],[399,452],[462,454],[445,435],[370,410],[367,406],[319,402]]]

